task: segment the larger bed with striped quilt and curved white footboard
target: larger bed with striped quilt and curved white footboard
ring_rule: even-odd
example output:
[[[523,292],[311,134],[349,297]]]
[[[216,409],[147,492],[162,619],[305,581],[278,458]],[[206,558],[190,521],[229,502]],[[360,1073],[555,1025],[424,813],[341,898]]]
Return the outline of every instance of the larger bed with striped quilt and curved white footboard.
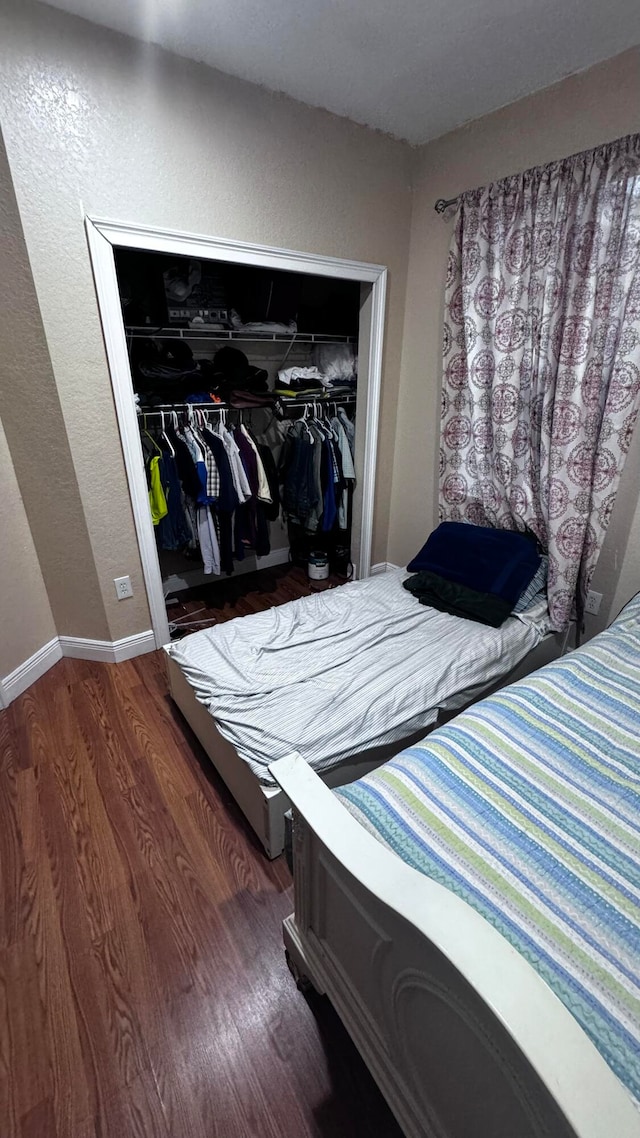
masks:
[[[408,1136],[640,1133],[640,597],[331,793],[300,756],[294,974]]]

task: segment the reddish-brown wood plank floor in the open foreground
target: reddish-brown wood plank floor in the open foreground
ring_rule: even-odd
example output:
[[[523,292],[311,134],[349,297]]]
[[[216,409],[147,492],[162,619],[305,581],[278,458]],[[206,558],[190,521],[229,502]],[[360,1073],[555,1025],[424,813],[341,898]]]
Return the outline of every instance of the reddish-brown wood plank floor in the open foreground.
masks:
[[[0,714],[0,858],[2,1138],[399,1138],[161,653]]]

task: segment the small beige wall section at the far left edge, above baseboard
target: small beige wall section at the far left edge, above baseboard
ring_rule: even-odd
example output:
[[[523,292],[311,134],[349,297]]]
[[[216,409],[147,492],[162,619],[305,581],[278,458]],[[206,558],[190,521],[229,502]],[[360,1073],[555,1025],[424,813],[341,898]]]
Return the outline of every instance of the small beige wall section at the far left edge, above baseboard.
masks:
[[[0,679],[56,635],[23,500],[0,423]]]

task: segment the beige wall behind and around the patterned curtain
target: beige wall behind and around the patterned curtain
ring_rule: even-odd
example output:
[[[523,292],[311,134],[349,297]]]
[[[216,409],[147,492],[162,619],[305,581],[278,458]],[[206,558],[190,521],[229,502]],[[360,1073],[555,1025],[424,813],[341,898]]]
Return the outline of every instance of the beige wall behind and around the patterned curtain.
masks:
[[[528,166],[551,162],[640,129],[640,49],[593,67],[420,148],[413,188],[411,254],[404,321],[400,404],[393,472],[388,560],[405,561],[433,527],[437,510],[437,439],[441,390],[441,329],[444,269],[452,222],[434,212],[437,198]],[[634,450],[640,448],[637,432]],[[626,538],[638,500],[638,460],[616,503],[593,588],[602,625],[621,582],[640,587],[640,517]],[[616,603],[620,596],[616,595]]]

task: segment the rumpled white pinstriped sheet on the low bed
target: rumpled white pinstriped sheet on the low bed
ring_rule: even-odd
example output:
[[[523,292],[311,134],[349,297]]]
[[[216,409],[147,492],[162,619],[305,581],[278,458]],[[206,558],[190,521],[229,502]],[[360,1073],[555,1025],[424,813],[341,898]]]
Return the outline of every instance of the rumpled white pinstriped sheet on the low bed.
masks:
[[[547,607],[502,628],[420,604],[392,570],[238,617],[167,648],[221,734],[265,785],[293,750],[326,770],[430,727],[506,676],[549,629]]]

